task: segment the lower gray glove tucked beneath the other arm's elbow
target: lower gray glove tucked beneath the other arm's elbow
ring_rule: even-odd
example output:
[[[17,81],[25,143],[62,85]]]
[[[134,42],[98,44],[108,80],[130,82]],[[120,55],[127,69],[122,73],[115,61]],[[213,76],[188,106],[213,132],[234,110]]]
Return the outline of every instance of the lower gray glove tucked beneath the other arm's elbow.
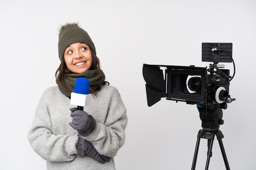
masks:
[[[76,148],[77,148],[77,155],[78,156],[88,155],[89,157],[99,161],[100,163],[105,163],[105,162],[110,161],[110,157],[100,155],[98,153],[98,151],[94,148],[92,143],[83,139],[81,136],[79,136]]]

